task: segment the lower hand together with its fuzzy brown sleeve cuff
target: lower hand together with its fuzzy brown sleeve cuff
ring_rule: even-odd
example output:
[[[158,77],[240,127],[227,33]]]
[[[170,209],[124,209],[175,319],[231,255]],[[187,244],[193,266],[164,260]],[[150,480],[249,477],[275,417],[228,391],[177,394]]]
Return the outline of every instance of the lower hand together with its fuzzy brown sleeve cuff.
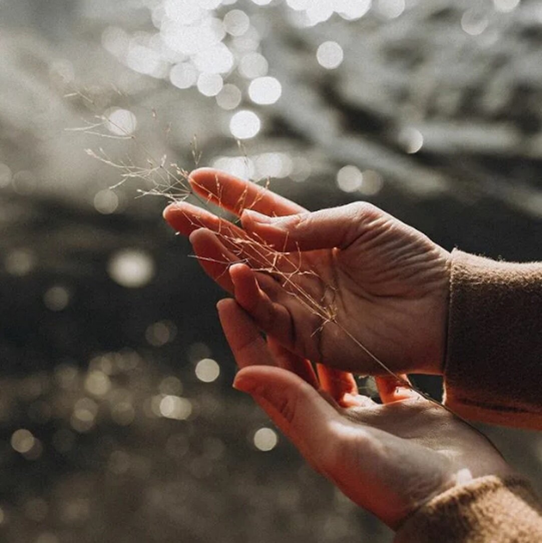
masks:
[[[537,499],[481,434],[389,379],[379,380],[383,405],[351,394],[340,407],[318,380],[296,375],[306,375],[306,361],[282,350],[276,362],[235,301],[218,307],[241,367],[235,388],[254,397],[314,469],[396,529],[396,543],[540,539]]]

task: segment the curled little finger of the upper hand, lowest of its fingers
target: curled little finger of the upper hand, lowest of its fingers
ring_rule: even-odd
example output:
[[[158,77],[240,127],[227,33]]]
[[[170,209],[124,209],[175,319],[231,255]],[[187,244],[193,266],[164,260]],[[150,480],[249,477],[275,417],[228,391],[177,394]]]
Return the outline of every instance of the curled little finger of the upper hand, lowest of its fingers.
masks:
[[[280,343],[291,345],[292,317],[287,308],[272,301],[262,291],[256,274],[245,264],[232,265],[229,274],[238,304],[250,314],[261,330],[274,336]]]

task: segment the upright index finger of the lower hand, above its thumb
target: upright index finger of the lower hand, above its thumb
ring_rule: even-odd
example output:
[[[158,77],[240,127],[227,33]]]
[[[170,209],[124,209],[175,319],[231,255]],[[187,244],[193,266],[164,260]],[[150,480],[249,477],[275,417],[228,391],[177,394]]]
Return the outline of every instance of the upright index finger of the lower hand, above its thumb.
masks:
[[[235,300],[220,300],[217,309],[220,324],[240,368],[275,364],[254,321]]]

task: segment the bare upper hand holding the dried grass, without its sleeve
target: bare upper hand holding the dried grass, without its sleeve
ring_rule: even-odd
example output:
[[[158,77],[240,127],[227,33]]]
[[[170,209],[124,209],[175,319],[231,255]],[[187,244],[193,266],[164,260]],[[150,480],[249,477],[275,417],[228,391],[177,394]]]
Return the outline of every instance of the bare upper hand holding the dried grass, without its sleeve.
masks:
[[[394,372],[442,372],[447,251],[368,203],[308,213],[212,169],[190,177],[194,191],[241,215],[244,231],[188,204],[169,206],[166,220],[191,234],[207,273],[262,330],[341,370],[384,373],[357,340]]]

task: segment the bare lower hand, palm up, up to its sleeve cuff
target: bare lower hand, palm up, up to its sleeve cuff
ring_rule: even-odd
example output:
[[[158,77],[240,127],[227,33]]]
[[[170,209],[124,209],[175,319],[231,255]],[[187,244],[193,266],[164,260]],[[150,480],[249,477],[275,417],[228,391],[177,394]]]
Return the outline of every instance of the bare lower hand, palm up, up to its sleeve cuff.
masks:
[[[486,438],[412,390],[378,378],[383,405],[355,392],[345,402],[319,388],[307,361],[273,342],[268,349],[234,300],[218,310],[242,368],[234,387],[254,397],[314,469],[391,528],[456,485],[511,475]]]

